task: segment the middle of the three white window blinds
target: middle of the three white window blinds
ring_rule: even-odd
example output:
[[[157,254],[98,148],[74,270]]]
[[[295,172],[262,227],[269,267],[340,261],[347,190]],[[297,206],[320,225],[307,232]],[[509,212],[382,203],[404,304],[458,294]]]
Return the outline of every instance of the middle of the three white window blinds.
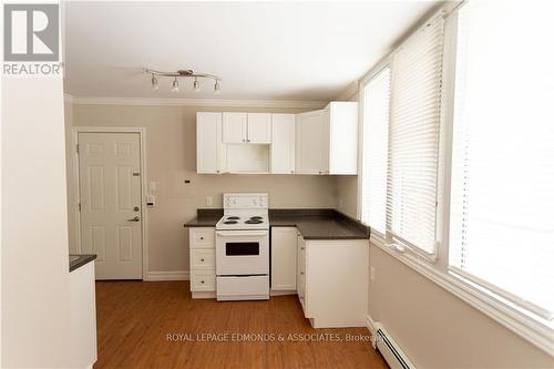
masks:
[[[431,20],[392,63],[387,230],[434,258],[443,19]],[[422,253],[421,253],[422,252]]]

